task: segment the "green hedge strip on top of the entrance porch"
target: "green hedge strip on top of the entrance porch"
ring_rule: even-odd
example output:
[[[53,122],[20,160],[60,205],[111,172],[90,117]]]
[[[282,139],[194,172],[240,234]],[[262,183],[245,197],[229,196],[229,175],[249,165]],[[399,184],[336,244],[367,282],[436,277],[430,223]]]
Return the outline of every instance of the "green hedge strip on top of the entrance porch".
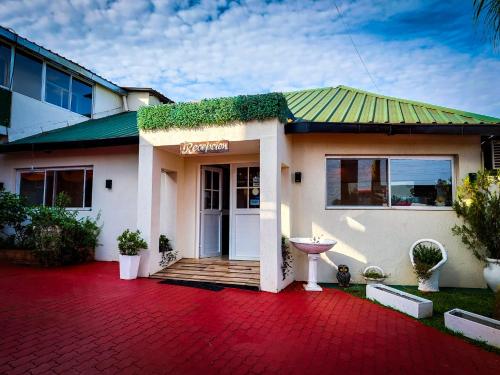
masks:
[[[289,112],[283,94],[270,93],[142,107],[137,120],[142,130],[195,128],[270,118],[286,123]]]

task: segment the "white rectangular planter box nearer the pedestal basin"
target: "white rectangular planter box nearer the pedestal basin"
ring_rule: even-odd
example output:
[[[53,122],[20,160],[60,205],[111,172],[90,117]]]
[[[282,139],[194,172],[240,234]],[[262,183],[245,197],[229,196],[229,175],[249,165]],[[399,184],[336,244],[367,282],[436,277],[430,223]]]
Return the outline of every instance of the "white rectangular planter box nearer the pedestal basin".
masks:
[[[432,316],[432,301],[383,284],[366,286],[366,298],[422,319]]]

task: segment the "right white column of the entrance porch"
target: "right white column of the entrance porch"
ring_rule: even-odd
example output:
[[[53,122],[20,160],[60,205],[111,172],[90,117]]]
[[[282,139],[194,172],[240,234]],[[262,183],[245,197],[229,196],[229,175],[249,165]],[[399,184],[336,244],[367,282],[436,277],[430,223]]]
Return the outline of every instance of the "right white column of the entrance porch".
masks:
[[[281,163],[277,134],[260,139],[260,287],[278,292],[281,277]]]

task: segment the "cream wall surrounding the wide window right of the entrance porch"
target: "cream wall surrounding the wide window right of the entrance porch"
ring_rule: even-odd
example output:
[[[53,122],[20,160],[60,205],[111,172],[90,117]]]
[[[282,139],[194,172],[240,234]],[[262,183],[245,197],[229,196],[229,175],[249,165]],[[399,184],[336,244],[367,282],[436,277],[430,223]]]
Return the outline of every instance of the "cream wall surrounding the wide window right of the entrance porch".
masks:
[[[442,286],[484,287],[483,265],[451,227],[458,220],[453,210],[325,209],[325,155],[447,155],[455,156],[456,182],[481,167],[478,136],[387,136],[309,134],[293,136],[291,172],[302,172],[292,185],[291,221],[294,237],[324,235],[338,244],[322,255],[318,277],[336,282],[333,264],[346,264],[355,282],[368,265],[391,274],[391,284],[415,284],[408,251],[420,238],[433,238],[448,251],[441,273]],[[295,252],[296,278],[307,277],[307,258]]]

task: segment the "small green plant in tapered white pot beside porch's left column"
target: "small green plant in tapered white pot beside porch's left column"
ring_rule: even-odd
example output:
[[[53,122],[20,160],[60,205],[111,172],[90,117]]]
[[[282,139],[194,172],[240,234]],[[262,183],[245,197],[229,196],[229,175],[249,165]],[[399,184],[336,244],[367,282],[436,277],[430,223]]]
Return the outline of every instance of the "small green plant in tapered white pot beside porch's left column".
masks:
[[[120,250],[120,279],[132,280],[137,278],[139,272],[139,261],[142,249],[147,249],[148,245],[141,237],[141,232],[136,230],[131,232],[125,230],[117,238],[118,249]]]

